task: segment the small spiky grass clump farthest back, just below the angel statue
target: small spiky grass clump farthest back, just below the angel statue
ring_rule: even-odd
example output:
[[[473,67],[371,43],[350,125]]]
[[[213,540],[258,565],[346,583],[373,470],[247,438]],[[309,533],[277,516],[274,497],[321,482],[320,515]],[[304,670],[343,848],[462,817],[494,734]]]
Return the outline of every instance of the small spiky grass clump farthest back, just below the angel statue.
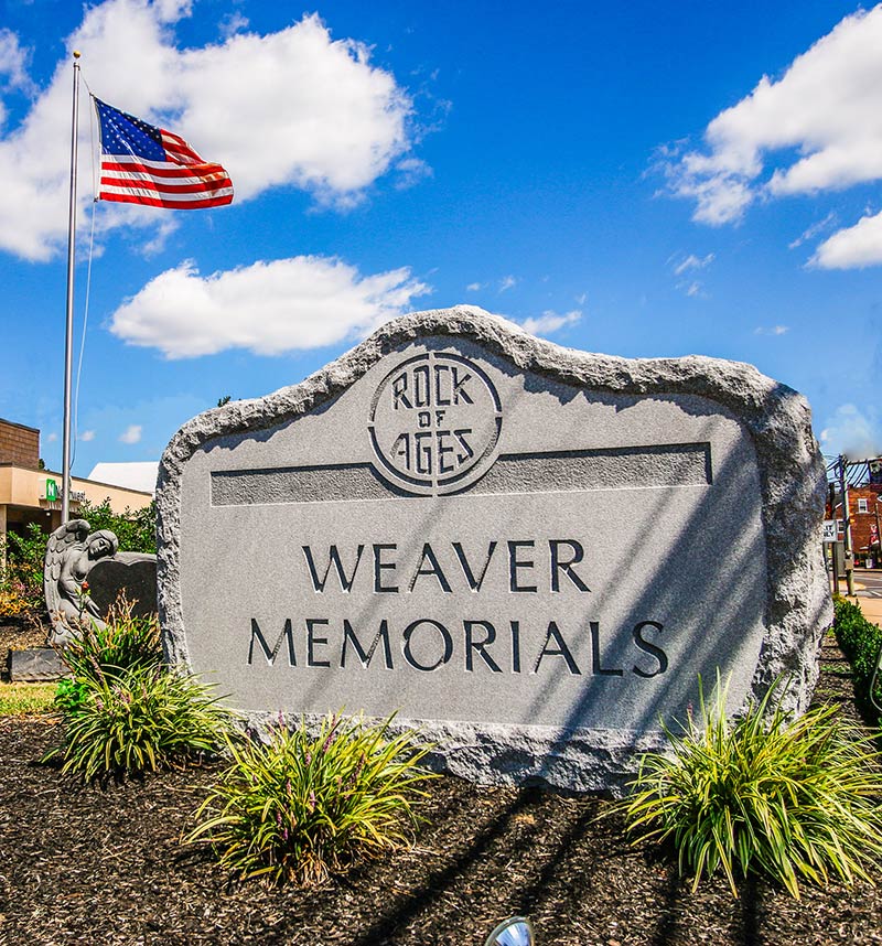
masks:
[[[162,662],[162,644],[157,616],[139,617],[123,600],[111,609],[104,625],[90,622],[73,630],[71,639],[58,647],[58,656],[75,680],[96,679],[111,670],[157,667]]]

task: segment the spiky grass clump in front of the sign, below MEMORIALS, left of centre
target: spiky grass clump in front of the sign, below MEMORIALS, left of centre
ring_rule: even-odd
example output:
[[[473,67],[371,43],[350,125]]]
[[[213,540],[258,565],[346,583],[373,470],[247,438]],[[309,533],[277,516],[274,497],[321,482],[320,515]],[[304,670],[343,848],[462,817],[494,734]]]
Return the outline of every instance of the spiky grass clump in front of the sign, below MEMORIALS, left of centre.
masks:
[[[323,882],[344,862],[410,840],[430,746],[413,732],[388,738],[391,717],[325,718],[318,735],[301,721],[268,742],[229,744],[232,764],[197,811],[187,838],[207,841],[240,880]]]

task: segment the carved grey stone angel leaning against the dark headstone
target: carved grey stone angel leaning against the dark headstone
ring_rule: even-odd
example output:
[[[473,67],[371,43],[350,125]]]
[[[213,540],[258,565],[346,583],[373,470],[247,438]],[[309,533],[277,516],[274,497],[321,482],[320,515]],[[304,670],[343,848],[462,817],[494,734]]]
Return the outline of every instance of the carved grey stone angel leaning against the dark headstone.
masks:
[[[52,620],[52,643],[64,644],[83,621],[101,624],[86,579],[100,559],[117,553],[119,539],[109,529],[89,535],[85,519],[72,519],[49,537],[43,566],[43,593]]]

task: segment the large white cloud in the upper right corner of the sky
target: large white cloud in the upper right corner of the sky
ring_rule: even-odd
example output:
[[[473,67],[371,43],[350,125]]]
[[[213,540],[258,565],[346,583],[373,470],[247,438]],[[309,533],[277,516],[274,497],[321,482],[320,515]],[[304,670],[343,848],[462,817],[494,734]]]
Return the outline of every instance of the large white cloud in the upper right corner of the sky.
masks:
[[[882,179],[880,49],[882,4],[847,17],[779,79],[763,76],[720,112],[704,151],[665,149],[658,164],[671,192],[696,202],[693,219],[719,225],[739,221],[756,200]]]

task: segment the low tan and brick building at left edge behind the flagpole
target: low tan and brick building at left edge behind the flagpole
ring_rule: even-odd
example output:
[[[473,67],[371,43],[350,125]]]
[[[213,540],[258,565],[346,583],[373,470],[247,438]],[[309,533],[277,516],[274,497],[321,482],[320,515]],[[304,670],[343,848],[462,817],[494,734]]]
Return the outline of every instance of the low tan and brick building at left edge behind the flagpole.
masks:
[[[62,522],[62,474],[40,469],[40,431],[0,418],[0,537],[7,531],[23,534],[36,523],[49,535]],[[72,477],[71,516],[88,499],[98,505],[107,499],[116,514],[141,509],[151,494]]]

